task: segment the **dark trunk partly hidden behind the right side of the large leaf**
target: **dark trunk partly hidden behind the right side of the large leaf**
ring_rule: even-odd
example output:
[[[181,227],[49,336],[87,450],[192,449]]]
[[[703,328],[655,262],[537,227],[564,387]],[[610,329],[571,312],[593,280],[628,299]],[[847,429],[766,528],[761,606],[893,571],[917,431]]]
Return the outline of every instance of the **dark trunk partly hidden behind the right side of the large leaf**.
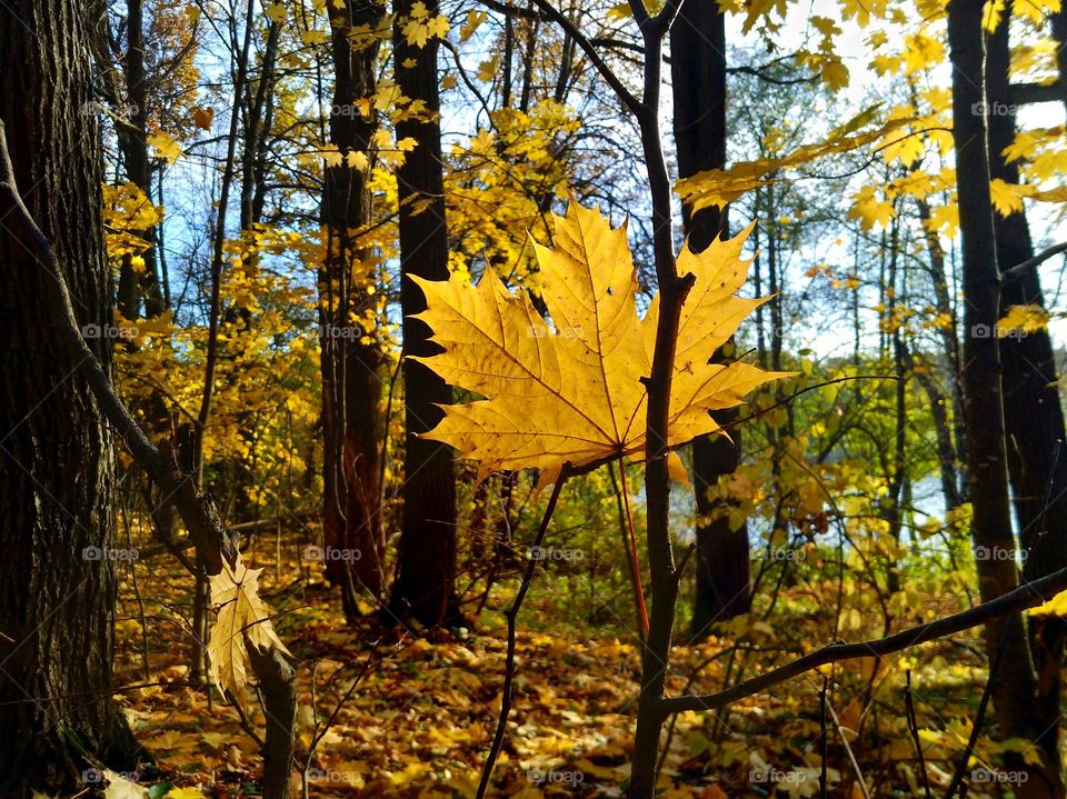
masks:
[[[714,3],[689,2],[670,36],[675,100],[675,141],[679,177],[726,166],[726,26]],[[685,209],[686,232],[694,252],[705,250],[727,230],[726,212],[707,208],[695,214]],[[732,354],[732,340],[718,357]],[[728,352],[727,352],[728,350]],[[718,415],[726,423],[735,412]],[[748,526],[722,512],[721,501],[708,489],[737,469],[740,431],[706,436],[692,445],[694,488],[697,495],[696,572],[692,607],[694,638],[708,635],[717,620],[747,613],[751,607]]]

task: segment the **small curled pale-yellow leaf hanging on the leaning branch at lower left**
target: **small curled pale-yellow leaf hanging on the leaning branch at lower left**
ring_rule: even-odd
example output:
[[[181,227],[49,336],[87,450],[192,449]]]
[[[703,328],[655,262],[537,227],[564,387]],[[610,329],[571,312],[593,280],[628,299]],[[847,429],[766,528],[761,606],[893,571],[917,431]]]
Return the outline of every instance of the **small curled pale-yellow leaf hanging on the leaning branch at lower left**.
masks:
[[[238,556],[237,565],[226,565],[212,575],[211,600],[218,606],[218,617],[208,639],[210,677],[220,690],[229,690],[241,701],[248,683],[248,648],[266,649],[271,645],[288,652],[270,623],[270,608],[259,597],[259,573],[249,569]]]

